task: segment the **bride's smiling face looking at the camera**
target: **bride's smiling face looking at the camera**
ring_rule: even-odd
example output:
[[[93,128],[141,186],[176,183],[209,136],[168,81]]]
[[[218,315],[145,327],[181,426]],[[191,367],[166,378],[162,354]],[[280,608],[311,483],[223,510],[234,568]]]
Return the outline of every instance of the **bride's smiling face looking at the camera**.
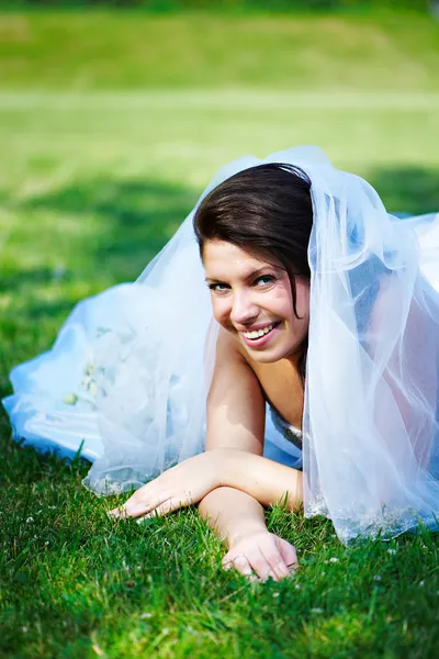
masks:
[[[279,264],[225,241],[206,241],[203,264],[215,320],[250,357],[267,364],[294,358],[308,331],[309,282],[296,278],[297,319]]]

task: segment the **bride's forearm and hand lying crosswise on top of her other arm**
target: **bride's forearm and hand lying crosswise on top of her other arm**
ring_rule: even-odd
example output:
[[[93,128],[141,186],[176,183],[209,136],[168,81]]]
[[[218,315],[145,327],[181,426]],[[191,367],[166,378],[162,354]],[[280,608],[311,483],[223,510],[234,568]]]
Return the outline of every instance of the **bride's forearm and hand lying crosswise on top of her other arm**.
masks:
[[[194,503],[219,487],[246,492],[262,505],[302,503],[302,472],[235,448],[217,448],[189,458],[139,488],[114,516],[162,516]]]

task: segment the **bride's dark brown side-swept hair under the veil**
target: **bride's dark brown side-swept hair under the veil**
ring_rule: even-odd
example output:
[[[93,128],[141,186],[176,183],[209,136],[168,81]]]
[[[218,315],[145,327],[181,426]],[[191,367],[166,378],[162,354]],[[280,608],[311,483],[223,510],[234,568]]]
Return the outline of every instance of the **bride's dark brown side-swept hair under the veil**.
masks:
[[[202,200],[193,226],[202,258],[205,242],[217,239],[280,263],[291,281],[297,316],[295,277],[311,277],[313,226],[311,181],[302,169],[270,163],[235,174]]]

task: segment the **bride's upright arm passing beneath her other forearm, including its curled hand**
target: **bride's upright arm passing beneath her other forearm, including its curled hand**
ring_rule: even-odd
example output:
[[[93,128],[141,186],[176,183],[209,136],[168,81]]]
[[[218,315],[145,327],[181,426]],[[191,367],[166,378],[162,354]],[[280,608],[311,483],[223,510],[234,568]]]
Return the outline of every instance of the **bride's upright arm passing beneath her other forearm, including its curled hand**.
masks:
[[[236,448],[261,456],[266,403],[258,379],[227,332],[219,330],[207,398],[206,450]],[[234,488],[211,491],[199,511],[228,547],[225,568],[261,579],[282,579],[296,565],[292,545],[269,533],[262,506]]]

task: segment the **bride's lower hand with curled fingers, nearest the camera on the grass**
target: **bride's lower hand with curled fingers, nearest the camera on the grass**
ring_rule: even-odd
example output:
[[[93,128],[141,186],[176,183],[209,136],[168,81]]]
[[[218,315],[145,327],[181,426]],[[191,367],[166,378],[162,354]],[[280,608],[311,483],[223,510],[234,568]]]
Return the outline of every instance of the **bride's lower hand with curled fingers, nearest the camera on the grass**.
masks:
[[[262,529],[232,541],[223,558],[223,568],[238,570],[246,577],[256,573],[262,581],[270,577],[280,581],[291,577],[297,568],[297,555],[293,545]]]

